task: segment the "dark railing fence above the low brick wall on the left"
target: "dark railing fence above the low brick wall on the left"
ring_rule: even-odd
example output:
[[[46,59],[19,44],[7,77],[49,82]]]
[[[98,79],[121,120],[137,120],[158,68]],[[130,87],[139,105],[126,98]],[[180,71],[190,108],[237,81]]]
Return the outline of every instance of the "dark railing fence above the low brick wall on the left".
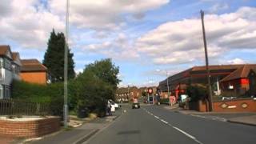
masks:
[[[48,103],[24,102],[13,99],[0,99],[0,115],[47,115]]]

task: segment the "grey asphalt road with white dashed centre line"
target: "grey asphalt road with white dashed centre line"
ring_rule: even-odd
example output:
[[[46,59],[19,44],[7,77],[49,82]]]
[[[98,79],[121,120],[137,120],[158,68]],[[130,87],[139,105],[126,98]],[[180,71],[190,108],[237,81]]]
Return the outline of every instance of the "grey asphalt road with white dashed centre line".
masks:
[[[142,106],[127,110],[106,129],[94,135],[89,144],[165,144],[165,143],[255,143],[256,127],[197,118],[165,110],[160,106]]]

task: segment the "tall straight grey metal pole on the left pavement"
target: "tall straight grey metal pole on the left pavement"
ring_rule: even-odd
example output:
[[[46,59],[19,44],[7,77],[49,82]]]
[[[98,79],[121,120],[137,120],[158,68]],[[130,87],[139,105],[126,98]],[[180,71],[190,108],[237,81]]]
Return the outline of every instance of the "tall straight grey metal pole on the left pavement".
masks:
[[[66,0],[66,41],[65,41],[65,52],[64,52],[64,126],[67,128],[68,120],[68,105],[67,105],[67,65],[68,65],[68,42],[69,42],[69,13],[70,13],[70,1]]]

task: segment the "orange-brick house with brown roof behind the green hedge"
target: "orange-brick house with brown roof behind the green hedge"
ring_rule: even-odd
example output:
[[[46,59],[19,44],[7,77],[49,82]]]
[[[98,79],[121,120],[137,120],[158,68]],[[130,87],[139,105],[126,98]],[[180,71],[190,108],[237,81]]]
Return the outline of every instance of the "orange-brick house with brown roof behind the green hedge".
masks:
[[[22,81],[46,84],[50,83],[50,74],[47,72],[46,66],[42,65],[37,59],[22,59],[21,70]]]

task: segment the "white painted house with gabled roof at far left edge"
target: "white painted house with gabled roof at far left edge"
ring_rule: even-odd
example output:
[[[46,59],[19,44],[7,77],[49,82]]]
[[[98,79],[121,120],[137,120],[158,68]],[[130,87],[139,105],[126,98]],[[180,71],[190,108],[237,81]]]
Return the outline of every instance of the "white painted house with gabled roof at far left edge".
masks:
[[[19,78],[21,61],[18,53],[12,53],[10,46],[0,46],[0,99],[10,98],[10,85]]]

